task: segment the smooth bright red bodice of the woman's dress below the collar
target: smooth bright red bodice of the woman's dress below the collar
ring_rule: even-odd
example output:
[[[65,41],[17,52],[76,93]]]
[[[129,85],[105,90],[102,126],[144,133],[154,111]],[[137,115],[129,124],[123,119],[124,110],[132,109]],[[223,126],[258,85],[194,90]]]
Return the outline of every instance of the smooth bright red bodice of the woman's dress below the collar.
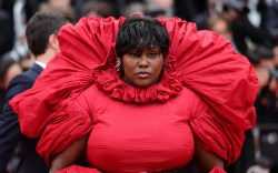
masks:
[[[122,173],[187,165],[193,154],[189,121],[207,109],[186,88],[166,103],[139,104],[111,99],[93,85],[78,102],[88,108],[93,123],[87,146],[89,163],[103,172]]]

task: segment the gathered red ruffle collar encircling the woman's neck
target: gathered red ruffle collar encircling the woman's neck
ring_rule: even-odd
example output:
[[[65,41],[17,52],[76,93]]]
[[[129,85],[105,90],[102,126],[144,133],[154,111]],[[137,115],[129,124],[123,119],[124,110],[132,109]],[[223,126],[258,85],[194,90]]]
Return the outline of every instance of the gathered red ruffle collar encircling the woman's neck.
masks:
[[[93,80],[101,91],[117,100],[133,103],[166,102],[182,89],[180,74],[175,67],[176,59],[169,55],[161,80],[149,88],[137,88],[123,82],[113,65],[93,71]]]

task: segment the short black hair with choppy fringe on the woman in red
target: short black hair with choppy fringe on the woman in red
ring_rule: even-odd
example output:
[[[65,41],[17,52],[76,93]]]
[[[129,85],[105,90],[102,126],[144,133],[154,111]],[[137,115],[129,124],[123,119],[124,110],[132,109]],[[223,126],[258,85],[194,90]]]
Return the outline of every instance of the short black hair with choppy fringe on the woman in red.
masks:
[[[119,28],[116,37],[116,52],[122,57],[131,49],[141,53],[143,49],[157,47],[163,58],[169,51],[169,33],[165,26],[156,18],[130,17]]]

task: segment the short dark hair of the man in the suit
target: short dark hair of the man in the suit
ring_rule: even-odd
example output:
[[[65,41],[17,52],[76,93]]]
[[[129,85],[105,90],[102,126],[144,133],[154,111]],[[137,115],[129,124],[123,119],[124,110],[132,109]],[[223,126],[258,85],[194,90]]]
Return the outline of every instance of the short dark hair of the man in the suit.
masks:
[[[26,37],[29,50],[34,57],[43,54],[49,37],[57,34],[62,26],[72,21],[63,12],[37,12],[27,23]]]

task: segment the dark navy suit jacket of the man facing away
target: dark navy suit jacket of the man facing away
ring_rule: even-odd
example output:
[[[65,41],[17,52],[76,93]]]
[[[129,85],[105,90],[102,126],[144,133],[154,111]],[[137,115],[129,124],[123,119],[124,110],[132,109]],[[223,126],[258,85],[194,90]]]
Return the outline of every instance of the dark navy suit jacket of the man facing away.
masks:
[[[21,142],[18,173],[48,173],[43,159],[36,152],[38,139],[21,134],[18,115],[9,101],[17,94],[30,89],[43,69],[33,64],[26,72],[14,77],[9,83],[2,115],[0,116],[0,173],[3,173],[18,142]],[[36,103],[34,103],[36,104]]]

